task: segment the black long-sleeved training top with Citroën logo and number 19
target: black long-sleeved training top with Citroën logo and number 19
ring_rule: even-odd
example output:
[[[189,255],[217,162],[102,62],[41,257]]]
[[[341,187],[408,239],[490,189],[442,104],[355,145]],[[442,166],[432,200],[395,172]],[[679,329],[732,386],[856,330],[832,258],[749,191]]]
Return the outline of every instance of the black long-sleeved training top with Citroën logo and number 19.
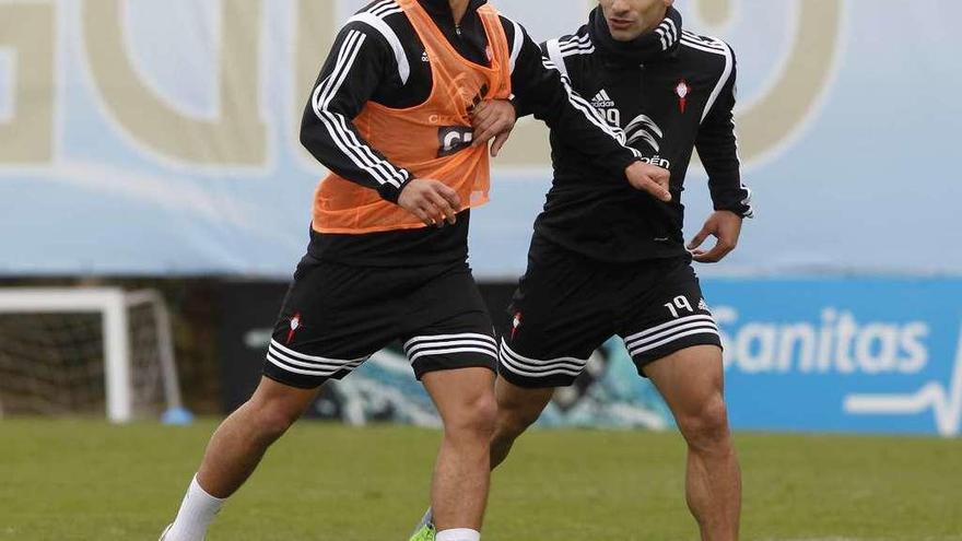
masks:
[[[595,167],[579,145],[552,133],[554,181],[536,235],[602,261],[687,257],[681,196],[695,149],[715,209],[752,215],[732,121],[735,55],[719,39],[682,30],[680,14],[672,12],[671,24],[640,38],[654,39],[654,51],[626,50],[614,43],[600,8],[575,34],[542,44],[545,58],[624,130],[645,161],[671,172],[672,201],[632,189],[621,177]]]

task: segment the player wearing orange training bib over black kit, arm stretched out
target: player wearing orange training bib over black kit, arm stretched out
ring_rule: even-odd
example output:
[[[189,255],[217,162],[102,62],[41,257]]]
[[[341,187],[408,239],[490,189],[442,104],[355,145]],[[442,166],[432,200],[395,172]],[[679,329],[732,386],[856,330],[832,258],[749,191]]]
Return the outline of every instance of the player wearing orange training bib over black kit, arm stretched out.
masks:
[[[431,491],[436,539],[480,539],[497,345],[467,235],[470,209],[488,200],[488,143],[494,138],[495,154],[514,124],[512,95],[535,104],[599,169],[670,199],[667,172],[624,146],[527,33],[484,0],[382,0],[359,11],[305,111],[302,142],[331,174],[315,193],[307,255],[263,377],[214,433],[162,540],[201,541],[318,388],[396,340],[444,423]],[[337,449],[310,452],[326,460]]]

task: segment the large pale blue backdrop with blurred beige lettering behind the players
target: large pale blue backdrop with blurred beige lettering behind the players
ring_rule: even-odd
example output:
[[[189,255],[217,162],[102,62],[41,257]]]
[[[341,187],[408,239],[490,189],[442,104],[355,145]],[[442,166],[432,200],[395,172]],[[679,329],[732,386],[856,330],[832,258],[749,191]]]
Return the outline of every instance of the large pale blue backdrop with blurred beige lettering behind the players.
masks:
[[[0,274],[289,275],[324,175],[300,119],[364,3],[0,2]],[[573,32],[595,4],[494,3],[537,40]],[[759,217],[720,269],[962,272],[939,236],[959,208],[941,196],[959,192],[962,2],[677,5],[738,56]],[[473,220],[478,275],[523,271],[550,175],[544,129],[521,121]],[[691,233],[711,203],[703,174],[688,188]]]

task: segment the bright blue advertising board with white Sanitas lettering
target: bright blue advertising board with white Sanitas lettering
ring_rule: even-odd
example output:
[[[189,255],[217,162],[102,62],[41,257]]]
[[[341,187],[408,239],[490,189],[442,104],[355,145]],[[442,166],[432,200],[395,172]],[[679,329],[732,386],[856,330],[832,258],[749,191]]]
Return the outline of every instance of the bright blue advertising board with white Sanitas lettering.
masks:
[[[962,428],[962,281],[715,280],[738,428]]]

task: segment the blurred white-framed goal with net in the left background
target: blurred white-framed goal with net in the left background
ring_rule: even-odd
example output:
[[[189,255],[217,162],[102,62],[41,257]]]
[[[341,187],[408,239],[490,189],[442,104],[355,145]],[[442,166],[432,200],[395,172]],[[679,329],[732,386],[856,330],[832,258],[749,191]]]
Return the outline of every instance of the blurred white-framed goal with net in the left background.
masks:
[[[0,289],[0,416],[38,414],[188,421],[161,295]]]

